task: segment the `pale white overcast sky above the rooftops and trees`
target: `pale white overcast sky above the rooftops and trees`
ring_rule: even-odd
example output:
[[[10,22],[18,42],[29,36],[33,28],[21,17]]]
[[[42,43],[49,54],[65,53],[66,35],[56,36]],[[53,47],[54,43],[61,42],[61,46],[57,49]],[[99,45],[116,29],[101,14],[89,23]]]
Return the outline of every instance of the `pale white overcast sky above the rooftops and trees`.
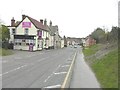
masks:
[[[97,27],[118,26],[119,0],[1,0],[0,18],[10,25],[26,14],[36,20],[51,20],[61,36],[86,37]]]

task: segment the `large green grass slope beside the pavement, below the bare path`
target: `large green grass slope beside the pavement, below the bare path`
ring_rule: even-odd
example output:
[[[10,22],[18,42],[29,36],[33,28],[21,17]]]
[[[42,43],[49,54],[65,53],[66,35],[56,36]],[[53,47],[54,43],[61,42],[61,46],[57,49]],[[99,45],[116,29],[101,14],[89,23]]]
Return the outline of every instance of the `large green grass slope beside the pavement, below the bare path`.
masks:
[[[118,52],[114,50],[99,60],[92,69],[103,88],[118,88]]]

